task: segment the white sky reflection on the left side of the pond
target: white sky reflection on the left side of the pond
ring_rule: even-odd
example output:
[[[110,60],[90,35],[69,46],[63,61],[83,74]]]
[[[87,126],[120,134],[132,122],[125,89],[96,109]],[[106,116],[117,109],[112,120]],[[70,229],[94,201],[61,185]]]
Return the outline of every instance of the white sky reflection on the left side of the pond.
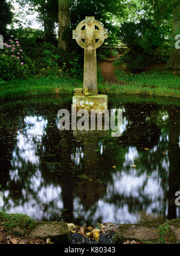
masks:
[[[43,204],[49,204],[53,202],[54,207],[59,209],[63,208],[61,198],[61,187],[50,186],[44,187],[43,177],[38,169],[40,163],[39,156],[37,155],[37,146],[42,142],[42,136],[46,134],[45,128],[47,126],[47,119],[44,120],[41,116],[26,116],[24,119],[25,128],[17,132],[17,145],[13,151],[13,161],[11,166],[13,170],[10,170],[10,179],[17,182],[19,180],[19,170],[16,168],[22,167],[22,160],[27,164],[35,164],[37,166],[34,175],[30,179],[30,188],[36,194],[36,200],[33,195],[26,193],[26,190],[22,190],[23,197],[28,198],[28,202],[16,206],[16,202],[12,199],[8,199],[8,203],[11,205],[10,212],[25,213],[30,216],[44,217],[44,206]],[[16,151],[18,149],[18,154]],[[19,159],[19,157],[21,159]],[[39,189],[41,187],[41,189]],[[9,195],[8,191],[5,191],[5,198]],[[38,201],[38,202],[37,202]],[[21,202],[19,202],[21,203]],[[52,209],[53,211],[53,209]],[[38,214],[37,214],[38,213]],[[45,216],[49,213],[45,212]]]

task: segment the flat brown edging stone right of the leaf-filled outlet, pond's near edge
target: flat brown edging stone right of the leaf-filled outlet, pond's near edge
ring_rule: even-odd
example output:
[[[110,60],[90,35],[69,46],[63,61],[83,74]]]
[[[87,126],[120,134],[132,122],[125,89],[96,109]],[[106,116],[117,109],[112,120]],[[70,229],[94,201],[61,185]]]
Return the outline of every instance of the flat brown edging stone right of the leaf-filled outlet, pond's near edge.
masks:
[[[157,225],[132,225],[122,224],[118,226],[116,232],[115,243],[123,243],[127,240],[149,240],[154,241],[159,239]]]

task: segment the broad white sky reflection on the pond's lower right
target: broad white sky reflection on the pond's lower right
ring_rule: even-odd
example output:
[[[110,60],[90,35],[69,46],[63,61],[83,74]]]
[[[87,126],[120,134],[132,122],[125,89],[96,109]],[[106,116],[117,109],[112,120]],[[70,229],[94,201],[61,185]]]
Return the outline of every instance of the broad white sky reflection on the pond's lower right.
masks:
[[[133,163],[134,158],[138,157],[137,151],[130,149],[129,154],[125,157],[125,163]],[[154,208],[160,207],[164,203],[164,192],[161,187],[161,179],[158,179],[158,170],[152,172],[151,177],[147,177],[146,173],[142,175],[137,174],[137,170],[133,167],[130,172],[118,172],[113,174],[113,185],[107,185],[106,198],[100,199],[97,202],[97,210],[93,216],[93,219],[98,219],[99,216],[102,217],[102,222],[119,222],[119,223],[136,223],[140,219],[140,213],[130,213],[127,205],[122,205],[121,207],[116,207],[116,205],[107,202],[110,198],[115,195],[119,198],[133,197],[137,198],[138,201],[143,205],[144,198],[148,198],[151,204],[145,209],[146,213],[153,213]],[[142,187],[145,185],[145,189]],[[89,216],[91,214],[91,209],[88,212],[83,210],[83,205],[74,199],[74,205],[77,207],[74,210],[78,210],[75,214],[77,217],[79,212],[82,216]],[[93,206],[92,206],[93,208]]]

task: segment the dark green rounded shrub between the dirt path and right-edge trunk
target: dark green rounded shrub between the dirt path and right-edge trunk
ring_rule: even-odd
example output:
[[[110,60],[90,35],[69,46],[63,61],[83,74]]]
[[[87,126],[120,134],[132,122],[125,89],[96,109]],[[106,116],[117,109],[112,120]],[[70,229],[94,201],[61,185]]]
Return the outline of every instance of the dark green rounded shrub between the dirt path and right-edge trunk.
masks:
[[[123,23],[119,37],[128,46],[128,50],[119,58],[119,64],[124,64],[133,73],[142,72],[155,61],[155,51],[164,42],[161,28],[155,27],[153,20],[146,19],[138,23]]]

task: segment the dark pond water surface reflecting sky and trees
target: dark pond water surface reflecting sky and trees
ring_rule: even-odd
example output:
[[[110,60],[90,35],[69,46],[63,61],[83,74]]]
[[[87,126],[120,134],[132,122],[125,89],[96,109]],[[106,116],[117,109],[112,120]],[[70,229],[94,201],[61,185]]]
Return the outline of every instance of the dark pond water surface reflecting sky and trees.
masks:
[[[180,217],[175,205],[180,190],[178,102],[109,96],[109,108],[123,109],[121,137],[109,131],[94,136],[59,131],[60,108],[71,110],[71,97],[1,105],[5,210],[80,225]]]

